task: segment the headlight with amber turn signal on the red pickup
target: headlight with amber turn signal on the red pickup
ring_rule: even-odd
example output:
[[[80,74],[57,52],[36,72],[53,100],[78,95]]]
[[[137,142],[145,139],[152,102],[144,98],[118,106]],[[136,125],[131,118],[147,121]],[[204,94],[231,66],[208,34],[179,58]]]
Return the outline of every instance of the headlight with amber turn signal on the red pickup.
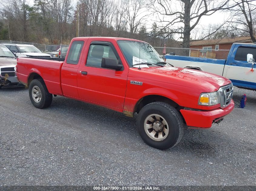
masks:
[[[220,103],[220,94],[218,91],[212,93],[200,94],[198,105],[211,106]]]

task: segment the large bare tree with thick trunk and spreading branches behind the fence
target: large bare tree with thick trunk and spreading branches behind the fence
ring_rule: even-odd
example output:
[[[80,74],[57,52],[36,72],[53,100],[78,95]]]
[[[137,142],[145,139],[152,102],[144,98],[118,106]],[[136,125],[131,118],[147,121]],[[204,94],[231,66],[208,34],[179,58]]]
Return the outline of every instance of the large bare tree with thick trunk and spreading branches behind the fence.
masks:
[[[188,48],[191,31],[198,25],[202,16],[211,15],[235,5],[229,5],[229,0],[152,0],[151,6],[163,24],[158,27],[159,33],[165,33],[164,30],[168,30],[166,36],[179,34],[183,39],[182,46]]]

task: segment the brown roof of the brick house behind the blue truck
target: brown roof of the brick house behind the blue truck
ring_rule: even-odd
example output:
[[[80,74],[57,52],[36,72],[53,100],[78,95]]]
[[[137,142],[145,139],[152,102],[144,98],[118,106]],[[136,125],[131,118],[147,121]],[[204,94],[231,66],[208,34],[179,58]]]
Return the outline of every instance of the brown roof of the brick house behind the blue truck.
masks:
[[[256,36],[255,36],[256,38]],[[229,44],[229,43],[251,43],[251,37],[234,37],[211,40],[195,40],[191,41],[190,46],[211,45],[211,44]]]

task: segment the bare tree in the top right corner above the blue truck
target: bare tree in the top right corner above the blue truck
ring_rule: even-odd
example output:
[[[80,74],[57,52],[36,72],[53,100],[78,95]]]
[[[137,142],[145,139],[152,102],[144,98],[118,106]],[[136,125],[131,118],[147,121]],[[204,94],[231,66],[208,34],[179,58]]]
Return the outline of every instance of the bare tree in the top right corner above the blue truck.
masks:
[[[237,6],[230,10],[234,13],[233,19],[229,21],[231,28],[240,35],[249,35],[252,42],[256,42],[256,0],[240,0],[236,3]]]

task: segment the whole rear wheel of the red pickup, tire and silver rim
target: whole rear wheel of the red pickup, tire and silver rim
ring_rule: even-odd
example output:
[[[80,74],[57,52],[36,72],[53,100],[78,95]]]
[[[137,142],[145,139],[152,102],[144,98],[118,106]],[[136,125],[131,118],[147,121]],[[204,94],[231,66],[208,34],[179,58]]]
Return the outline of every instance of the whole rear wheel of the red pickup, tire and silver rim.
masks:
[[[48,92],[43,79],[32,80],[28,92],[29,98],[35,107],[42,109],[51,105],[52,94]]]

